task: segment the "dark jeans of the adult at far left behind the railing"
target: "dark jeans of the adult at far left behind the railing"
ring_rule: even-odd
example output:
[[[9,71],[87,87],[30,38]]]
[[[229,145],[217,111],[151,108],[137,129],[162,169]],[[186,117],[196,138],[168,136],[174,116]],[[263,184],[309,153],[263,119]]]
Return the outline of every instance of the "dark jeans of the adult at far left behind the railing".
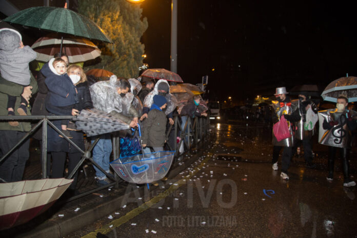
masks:
[[[0,130],[0,150],[5,155],[26,134],[22,131]],[[30,139],[17,147],[0,163],[0,177],[6,182],[21,181],[25,171],[26,161],[30,156]]]

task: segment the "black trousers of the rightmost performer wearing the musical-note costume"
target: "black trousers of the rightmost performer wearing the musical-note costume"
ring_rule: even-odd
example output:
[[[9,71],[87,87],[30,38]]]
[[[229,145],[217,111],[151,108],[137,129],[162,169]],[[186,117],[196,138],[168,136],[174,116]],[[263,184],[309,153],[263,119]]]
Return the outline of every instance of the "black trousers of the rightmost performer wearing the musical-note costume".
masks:
[[[334,159],[335,159],[335,155],[336,155],[336,150],[338,150],[338,149],[340,150],[344,182],[348,183],[348,182],[350,182],[349,164],[348,164],[348,155],[349,155],[348,148],[338,148],[338,147],[333,147],[333,146],[328,147],[328,177],[333,178]]]

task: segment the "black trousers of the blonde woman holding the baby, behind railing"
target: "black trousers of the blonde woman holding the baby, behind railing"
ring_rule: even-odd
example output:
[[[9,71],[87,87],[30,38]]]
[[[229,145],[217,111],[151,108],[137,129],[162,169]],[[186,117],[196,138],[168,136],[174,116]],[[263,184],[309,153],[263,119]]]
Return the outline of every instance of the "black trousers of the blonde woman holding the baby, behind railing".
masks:
[[[51,152],[52,155],[52,177],[64,177],[66,163],[66,152]],[[82,153],[68,153],[68,173],[71,173],[74,167],[80,162]],[[70,189],[75,189],[77,185],[78,170],[73,175],[73,183],[69,186]]]

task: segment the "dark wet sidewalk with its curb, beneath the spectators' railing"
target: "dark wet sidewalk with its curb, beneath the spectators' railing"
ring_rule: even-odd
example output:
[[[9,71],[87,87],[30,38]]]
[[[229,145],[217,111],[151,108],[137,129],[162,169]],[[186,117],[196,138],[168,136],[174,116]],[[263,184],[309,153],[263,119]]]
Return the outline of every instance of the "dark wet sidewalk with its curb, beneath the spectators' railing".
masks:
[[[207,143],[207,142],[205,142]],[[191,149],[191,154],[184,154],[181,157],[176,158],[175,167],[172,167],[168,173],[168,178],[176,176],[182,170],[190,166],[197,158],[203,153],[205,146],[201,146],[201,149]],[[41,167],[39,167],[39,153],[33,149],[31,151],[31,158],[29,165],[25,171],[25,179],[38,179],[41,178]],[[95,187],[94,175],[91,174],[91,168],[89,166],[87,170],[87,177],[82,170],[78,175],[78,185],[86,188]],[[80,168],[81,170],[81,168]],[[36,174],[36,175],[34,175]],[[73,231],[81,229],[86,225],[89,225],[99,219],[112,213],[114,210],[120,208],[123,197],[126,193],[128,183],[123,182],[119,185],[119,188],[105,188],[98,192],[91,193],[80,199],[65,203],[63,200],[58,200],[49,210],[44,214],[35,217],[30,222],[16,226],[12,229],[1,231],[1,237],[64,237]],[[154,191],[157,187],[151,186],[150,192]],[[136,186],[139,192],[143,192],[147,189],[146,184]],[[83,189],[82,189],[83,190]],[[130,190],[132,193],[137,192]],[[130,192],[129,191],[129,192]],[[81,191],[80,189],[80,192]]]

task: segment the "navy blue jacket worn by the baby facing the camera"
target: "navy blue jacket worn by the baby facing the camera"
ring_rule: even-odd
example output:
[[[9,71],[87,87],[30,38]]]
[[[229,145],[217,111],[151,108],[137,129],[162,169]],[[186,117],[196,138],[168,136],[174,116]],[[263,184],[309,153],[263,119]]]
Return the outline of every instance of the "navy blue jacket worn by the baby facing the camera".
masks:
[[[45,84],[49,90],[46,105],[50,103],[53,106],[65,107],[78,103],[76,87],[67,73],[63,75],[55,74],[50,69],[49,63],[42,67],[41,72],[46,77]]]

